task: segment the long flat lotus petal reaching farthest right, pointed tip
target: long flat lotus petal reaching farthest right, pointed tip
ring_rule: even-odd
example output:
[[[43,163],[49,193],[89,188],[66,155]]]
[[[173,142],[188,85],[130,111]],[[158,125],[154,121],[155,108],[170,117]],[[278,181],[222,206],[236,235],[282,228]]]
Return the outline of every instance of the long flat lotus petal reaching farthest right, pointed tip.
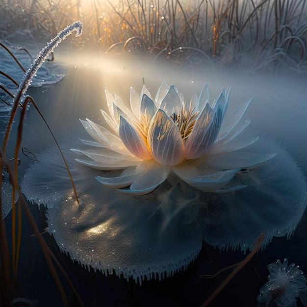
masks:
[[[256,168],[272,159],[276,153],[230,152],[218,153],[206,160],[208,165],[221,169]]]

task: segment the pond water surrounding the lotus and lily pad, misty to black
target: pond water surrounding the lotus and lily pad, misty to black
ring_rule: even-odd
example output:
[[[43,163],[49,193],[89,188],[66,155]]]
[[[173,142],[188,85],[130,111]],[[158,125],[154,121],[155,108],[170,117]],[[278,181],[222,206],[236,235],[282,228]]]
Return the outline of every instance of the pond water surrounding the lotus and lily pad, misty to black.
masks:
[[[263,76],[243,72],[212,71],[209,68],[180,67],[165,63],[154,65],[140,59],[118,60],[96,56],[63,57],[68,65],[69,75],[61,82],[45,89],[31,90],[36,103],[42,110],[55,137],[65,140],[71,131],[78,131],[78,119],[90,118],[100,122],[100,108],[105,108],[104,88],[116,92],[128,101],[129,88],[140,92],[143,80],[155,93],[165,79],[174,83],[186,98],[194,90],[198,93],[208,82],[210,97],[216,98],[222,87],[231,86],[230,110],[256,96],[246,118],[252,119],[252,128],[280,142],[298,161],[303,172],[307,171],[306,138],[306,77]],[[74,68],[74,66],[77,66]],[[44,91],[44,92],[42,92]],[[16,127],[15,127],[16,128]],[[67,131],[70,131],[69,133]],[[9,154],[13,152],[15,130],[12,132]],[[65,136],[66,135],[66,136]],[[77,136],[77,135],[76,135]],[[22,146],[32,153],[39,153],[54,142],[43,120],[33,107],[29,109]],[[20,177],[30,161],[21,153]],[[44,208],[30,205],[41,231],[46,221]],[[10,224],[11,215],[6,217]],[[10,227],[8,227],[8,230]],[[10,231],[10,230],[9,230]],[[289,262],[299,264],[307,272],[306,218],[303,217],[298,229],[286,240],[274,238],[267,248],[259,252],[215,298],[210,306],[256,306],[259,288],[267,281],[266,265],[276,259],[287,257]],[[37,240],[31,236],[26,218],[23,219],[22,254],[19,267],[20,291],[17,296],[38,300],[38,306],[61,306],[59,294],[40,251]],[[242,260],[240,252],[222,252],[203,243],[200,255],[184,272],[162,281],[144,281],[139,286],[116,276],[102,275],[101,272],[87,271],[69,256],[60,253],[53,238],[44,234],[52,250],[60,259],[85,306],[201,306],[205,299],[227,277],[227,270],[215,278],[204,279],[201,275],[214,274],[221,268]],[[71,306],[76,301],[71,289],[59,273],[67,290]],[[298,303],[298,306],[300,303]]]

